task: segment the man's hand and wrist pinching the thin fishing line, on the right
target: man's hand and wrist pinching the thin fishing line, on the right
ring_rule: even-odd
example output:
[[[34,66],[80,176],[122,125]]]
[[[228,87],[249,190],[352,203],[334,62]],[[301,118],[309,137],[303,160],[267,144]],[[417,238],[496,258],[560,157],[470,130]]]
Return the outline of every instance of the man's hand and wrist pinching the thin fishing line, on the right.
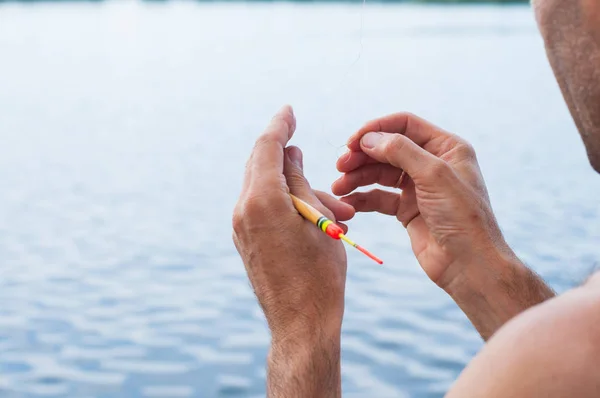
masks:
[[[402,113],[368,123],[348,148],[338,160],[344,175],[333,184],[333,193],[347,195],[375,183],[402,189],[358,192],[342,200],[357,211],[396,216],[424,271],[483,338],[553,296],[505,242],[466,141]]]

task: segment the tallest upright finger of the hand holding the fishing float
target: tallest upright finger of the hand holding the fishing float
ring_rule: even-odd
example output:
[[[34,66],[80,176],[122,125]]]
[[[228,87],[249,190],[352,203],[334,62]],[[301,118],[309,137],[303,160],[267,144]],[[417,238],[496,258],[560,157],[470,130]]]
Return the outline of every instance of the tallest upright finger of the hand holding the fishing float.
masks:
[[[283,175],[283,149],[294,135],[296,118],[289,105],[273,117],[265,131],[258,137],[246,166],[244,187],[259,181],[273,182]]]

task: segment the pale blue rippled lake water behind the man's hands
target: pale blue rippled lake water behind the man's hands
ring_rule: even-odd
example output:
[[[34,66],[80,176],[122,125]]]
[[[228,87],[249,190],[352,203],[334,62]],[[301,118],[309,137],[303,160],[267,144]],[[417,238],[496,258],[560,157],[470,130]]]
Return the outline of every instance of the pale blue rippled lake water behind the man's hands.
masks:
[[[600,258],[585,159],[527,7],[0,5],[2,397],[258,397],[269,337],[231,242],[284,103],[313,186],[363,122],[469,139],[519,255],[558,290]],[[362,53],[357,58],[362,37]],[[348,397],[441,397],[480,349],[401,226],[359,215]]]

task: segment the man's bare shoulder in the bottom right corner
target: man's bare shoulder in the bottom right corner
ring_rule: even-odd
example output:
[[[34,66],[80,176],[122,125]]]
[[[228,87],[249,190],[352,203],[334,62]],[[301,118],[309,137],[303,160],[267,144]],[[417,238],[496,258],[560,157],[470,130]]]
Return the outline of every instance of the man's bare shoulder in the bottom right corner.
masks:
[[[446,397],[600,397],[600,274],[508,322]]]

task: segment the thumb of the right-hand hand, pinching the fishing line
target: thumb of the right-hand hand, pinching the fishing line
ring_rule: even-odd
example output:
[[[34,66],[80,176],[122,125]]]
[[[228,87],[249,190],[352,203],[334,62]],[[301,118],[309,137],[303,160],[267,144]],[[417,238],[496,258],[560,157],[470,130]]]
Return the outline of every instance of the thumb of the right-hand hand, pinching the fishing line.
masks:
[[[406,171],[413,180],[446,166],[443,160],[402,134],[367,133],[361,138],[360,147],[371,158]]]

